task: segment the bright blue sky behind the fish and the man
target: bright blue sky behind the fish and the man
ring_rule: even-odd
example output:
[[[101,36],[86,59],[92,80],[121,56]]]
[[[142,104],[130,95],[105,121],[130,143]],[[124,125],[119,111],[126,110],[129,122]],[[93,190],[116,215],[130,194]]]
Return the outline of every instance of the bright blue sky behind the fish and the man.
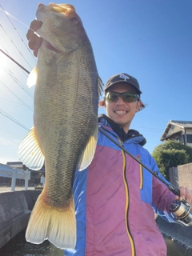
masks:
[[[42,1],[46,5],[49,2]],[[0,8],[29,26],[38,3],[0,0]],[[130,128],[145,136],[145,147],[152,153],[161,143],[170,119],[191,121],[192,118],[192,1],[69,0],[68,3],[74,5],[82,18],[102,81],[105,83],[111,75],[122,72],[138,79],[142,101],[147,106],[136,114]],[[30,71],[36,58],[27,48],[27,27],[10,16],[9,19],[0,10],[0,49]],[[19,143],[33,126],[34,88],[27,88],[26,79],[27,74],[0,53],[2,163],[19,160]],[[98,113],[105,111],[99,109]]]

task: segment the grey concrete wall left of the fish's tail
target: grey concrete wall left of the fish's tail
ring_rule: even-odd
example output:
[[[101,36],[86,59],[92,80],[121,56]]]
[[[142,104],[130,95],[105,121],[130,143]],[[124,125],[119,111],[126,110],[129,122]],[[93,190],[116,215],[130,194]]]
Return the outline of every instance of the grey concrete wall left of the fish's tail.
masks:
[[[0,194],[0,248],[23,230],[42,190],[23,190]]]

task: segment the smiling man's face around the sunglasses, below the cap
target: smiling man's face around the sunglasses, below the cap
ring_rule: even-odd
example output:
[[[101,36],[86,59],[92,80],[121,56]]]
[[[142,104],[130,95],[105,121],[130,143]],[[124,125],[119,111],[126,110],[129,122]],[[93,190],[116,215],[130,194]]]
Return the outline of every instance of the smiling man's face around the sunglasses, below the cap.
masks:
[[[134,86],[125,83],[118,83],[108,91],[124,93],[130,92],[137,94]],[[134,114],[138,112],[142,102],[124,102],[121,97],[118,98],[117,102],[105,102],[107,116],[121,126],[127,133],[130,128],[130,122],[134,118]]]

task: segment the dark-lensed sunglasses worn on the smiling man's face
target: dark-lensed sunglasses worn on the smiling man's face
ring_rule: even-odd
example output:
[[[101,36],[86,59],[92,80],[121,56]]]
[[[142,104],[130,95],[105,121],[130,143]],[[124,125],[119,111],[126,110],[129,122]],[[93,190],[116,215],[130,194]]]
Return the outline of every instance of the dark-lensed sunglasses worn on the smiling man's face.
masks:
[[[108,91],[106,92],[104,99],[106,102],[117,102],[119,96],[121,96],[124,102],[136,102],[139,99],[138,94],[131,94],[128,91],[125,93],[116,93],[114,91]]]

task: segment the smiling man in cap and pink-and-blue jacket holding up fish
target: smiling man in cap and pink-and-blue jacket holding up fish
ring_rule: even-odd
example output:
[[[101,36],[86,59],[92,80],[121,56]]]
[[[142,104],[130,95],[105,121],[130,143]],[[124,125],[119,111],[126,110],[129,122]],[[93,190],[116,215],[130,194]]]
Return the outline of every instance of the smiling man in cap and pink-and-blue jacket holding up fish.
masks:
[[[42,24],[31,23],[37,30]],[[41,38],[27,33],[29,46],[37,56]],[[51,50],[51,46],[47,47]],[[142,146],[146,139],[130,130],[134,115],[145,106],[137,79],[116,74],[105,86],[99,103],[106,115],[99,126],[123,145],[140,162],[159,174],[158,166]],[[181,187],[181,195],[192,202],[191,190]],[[166,256],[166,243],[154,220],[154,211],[170,221],[170,203],[177,198],[141,164],[131,158],[104,134],[98,132],[94,159],[86,170],[74,175],[74,202],[77,219],[77,243],[65,255],[78,256]],[[174,222],[174,220],[172,219]]]

